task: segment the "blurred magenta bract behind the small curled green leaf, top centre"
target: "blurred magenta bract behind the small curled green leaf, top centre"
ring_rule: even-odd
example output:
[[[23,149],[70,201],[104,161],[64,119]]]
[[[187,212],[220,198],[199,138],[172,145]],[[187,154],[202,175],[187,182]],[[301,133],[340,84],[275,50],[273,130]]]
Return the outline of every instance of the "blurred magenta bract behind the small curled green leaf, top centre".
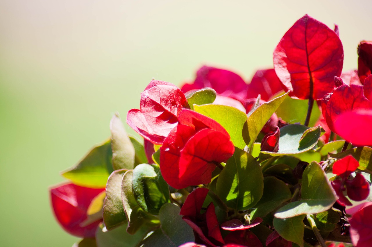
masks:
[[[192,89],[211,87],[217,94],[231,97],[242,101],[247,95],[247,84],[234,72],[219,68],[203,66],[196,72],[195,81],[192,84],[185,84],[181,87],[186,93]]]

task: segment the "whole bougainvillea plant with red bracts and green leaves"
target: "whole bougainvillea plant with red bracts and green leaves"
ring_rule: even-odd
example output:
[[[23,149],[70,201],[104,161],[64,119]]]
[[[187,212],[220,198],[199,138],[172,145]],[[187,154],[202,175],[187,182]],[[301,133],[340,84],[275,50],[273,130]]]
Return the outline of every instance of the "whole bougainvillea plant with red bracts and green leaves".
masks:
[[[334,30],[305,15],[250,83],[203,66],[151,81],[140,109],[50,189],[80,247],[371,247],[372,42],[343,73]]]

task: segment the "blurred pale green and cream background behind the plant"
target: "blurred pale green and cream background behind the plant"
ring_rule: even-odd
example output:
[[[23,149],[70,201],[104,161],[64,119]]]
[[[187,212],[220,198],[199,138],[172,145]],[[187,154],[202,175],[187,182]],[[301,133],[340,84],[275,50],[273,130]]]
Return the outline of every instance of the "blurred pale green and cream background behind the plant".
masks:
[[[138,108],[151,78],[180,84],[202,64],[245,80],[272,67],[272,52],[305,13],[344,45],[357,67],[372,40],[372,2],[0,0],[1,246],[68,247],[48,186],[63,181],[114,112]],[[134,133],[127,126],[129,132]]]

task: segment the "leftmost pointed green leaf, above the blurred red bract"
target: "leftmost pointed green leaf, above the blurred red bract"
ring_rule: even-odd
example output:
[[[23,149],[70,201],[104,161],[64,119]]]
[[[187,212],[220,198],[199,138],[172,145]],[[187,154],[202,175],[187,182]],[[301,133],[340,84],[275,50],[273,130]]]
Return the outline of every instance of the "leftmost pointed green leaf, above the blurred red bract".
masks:
[[[111,140],[93,147],[74,167],[62,171],[61,175],[76,185],[104,188],[112,169]]]

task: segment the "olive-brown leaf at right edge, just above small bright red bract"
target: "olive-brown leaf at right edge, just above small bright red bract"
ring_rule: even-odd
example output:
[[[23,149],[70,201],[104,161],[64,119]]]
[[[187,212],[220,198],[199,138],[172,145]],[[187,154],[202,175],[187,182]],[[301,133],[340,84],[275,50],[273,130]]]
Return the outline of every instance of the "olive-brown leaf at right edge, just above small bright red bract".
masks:
[[[347,155],[352,155],[359,162],[358,169],[372,174],[372,148],[364,146],[352,148],[338,154],[329,154],[330,157],[337,159],[344,158]]]

